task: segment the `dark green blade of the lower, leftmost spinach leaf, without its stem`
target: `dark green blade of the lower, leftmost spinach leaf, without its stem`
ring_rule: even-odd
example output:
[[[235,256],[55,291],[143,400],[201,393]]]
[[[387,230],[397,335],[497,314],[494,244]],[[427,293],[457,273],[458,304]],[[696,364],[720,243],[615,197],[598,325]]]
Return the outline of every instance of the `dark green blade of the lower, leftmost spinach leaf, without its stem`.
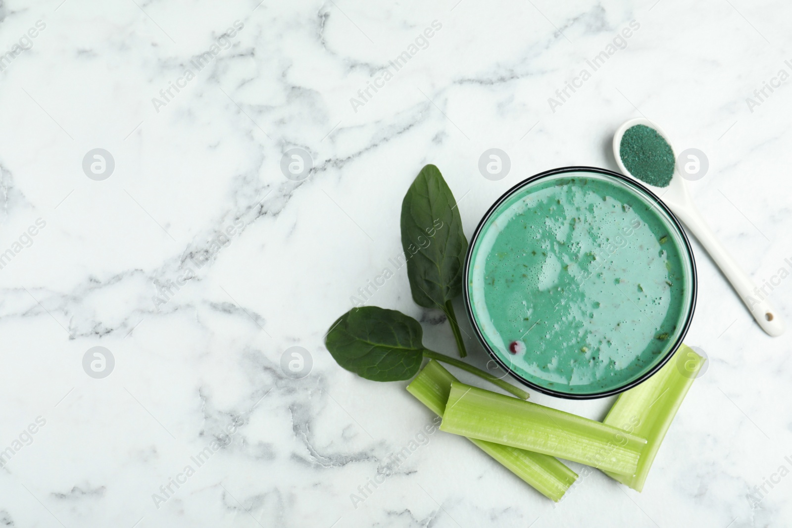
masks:
[[[336,363],[375,382],[412,378],[424,359],[423,329],[413,317],[378,306],[352,308],[327,332]]]

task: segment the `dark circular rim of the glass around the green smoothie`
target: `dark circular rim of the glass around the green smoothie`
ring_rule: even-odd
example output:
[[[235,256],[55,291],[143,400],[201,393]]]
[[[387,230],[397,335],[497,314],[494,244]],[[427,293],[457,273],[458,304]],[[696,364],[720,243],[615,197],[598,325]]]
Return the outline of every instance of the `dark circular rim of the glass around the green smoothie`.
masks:
[[[604,174],[608,177],[615,177],[617,180],[621,180],[627,187],[635,188],[638,192],[645,194],[649,199],[651,199],[657,207],[661,209],[668,216],[668,220],[671,226],[676,230],[676,234],[680,237],[683,242],[683,249],[684,251],[680,251],[680,256],[683,254],[687,255],[687,264],[690,265],[691,268],[691,276],[690,276],[690,283],[691,283],[691,294],[690,294],[690,302],[689,306],[687,307],[687,317],[685,317],[682,329],[680,330],[678,336],[674,343],[668,348],[668,351],[665,352],[664,356],[658,361],[653,367],[645,370],[642,374],[631,380],[630,382],[623,383],[622,385],[616,386],[612,389],[602,390],[596,393],[566,393],[556,389],[548,389],[543,386],[539,386],[535,382],[531,382],[517,374],[511,367],[508,367],[503,359],[499,355],[497,355],[496,351],[490,346],[489,342],[485,339],[482,330],[479,328],[478,321],[473,313],[473,306],[472,302],[470,301],[470,265],[473,259],[473,250],[476,242],[478,241],[479,236],[482,234],[482,230],[484,229],[485,224],[489,221],[489,218],[493,216],[493,213],[497,210],[498,207],[501,206],[507,199],[514,196],[516,192],[519,192],[521,188],[524,188],[528,184],[534,183],[537,180],[541,180],[546,177],[556,176],[559,174],[564,173],[596,173],[596,174]],[[684,256],[683,256],[684,259]],[[634,386],[638,386],[642,382],[645,382],[647,379],[652,377],[653,374],[657,373],[657,370],[660,370],[668,361],[676,354],[676,351],[682,346],[682,341],[684,337],[687,335],[687,330],[690,329],[691,321],[693,320],[693,314],[695,312],[695,305],[696,305],[696,298],[698,293],[698,274],[696,272],[695,266],[695,257],[693,255],[693,249],[691,247],[690,241],[687,238],[687,234],[682,227],[679,219],[676,218],[676,215],[672,213],[672,211],[668,208],[668,206],[649,188],[646,188],[640,182],[634,180],[633,178],[626,177],[623,174],[616,173],[609,169],[600,169],[598,167],[589,167],[585,165],[575,165],[569,167],[560,167],[558,169],[550,169],[546,170],[542,173],[535,174],[534,176],[528,177],[525,180],[520,181],[519,183],[509,188],[506,192],[504,192],[495,202],[487,209],[485,214],[482,216],[482,219],[478,222],[478,226],[476,226],[476,230],[472,237],[470,237],[470,243],[467,246],[467,253],[465,256],[465,264],[463,267],[463,276],[465,279],[464,287],[463,287],[463,300],[465,303],[465,310],[467,312],[467,316],[470,318],[470,325],[473,327],[476,336],[478,337],[479,342],[484,347],[485,351],[489,354],[489,357],[492,358],[495,363],[497,363],[507,374],[515,378],[518,382],[522,383],[524,386],[527,386],[531,389],[535,389],[540,393],[547,394],[549,396],[554,397],[562,397],[568,400],[593,400],[596,398],[613,396],[615,394],[623,393],[626,390],[633,388]]]

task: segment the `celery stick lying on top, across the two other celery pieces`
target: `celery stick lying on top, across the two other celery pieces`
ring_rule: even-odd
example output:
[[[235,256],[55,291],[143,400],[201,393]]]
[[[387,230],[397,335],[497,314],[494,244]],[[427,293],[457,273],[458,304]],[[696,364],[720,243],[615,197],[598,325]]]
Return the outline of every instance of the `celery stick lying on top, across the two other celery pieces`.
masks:
[[[569,412],[451,384],[440,431],[632,475],[646,439]]]

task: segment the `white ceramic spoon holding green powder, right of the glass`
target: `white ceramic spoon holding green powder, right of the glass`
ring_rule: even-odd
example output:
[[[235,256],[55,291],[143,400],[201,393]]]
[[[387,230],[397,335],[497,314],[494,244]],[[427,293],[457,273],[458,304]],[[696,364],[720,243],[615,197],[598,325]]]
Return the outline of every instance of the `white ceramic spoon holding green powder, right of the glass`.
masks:
[[[653,128],[663,136],[672,150],[674,148],[671,139],[668,139],[668,135],[661,127],[658,127],[657,124],[642,117],[626,121],[626,123],[619,127],[613,135],[613,155],[616,158],[616,164],[619,165],[619,169],[621,169],[622,173],[626,176],[638,180],[640,184],[650,188],[652,192],[661,197],[663,202],[668,205],[668,208],[673,211],[674,215],[680,218],[687,226],[687,229],[695,234],[695,237],[699,239],[699,242],[704,246],[707,253],[710,253],[712,260],[715,261],[715,264],[718,264],[718,268],[721,268],[723,275],[729,280],[729,283],[732,283],[734,291],[737,291],[742,302],[745,303],[745,306],[748,306],[748,311],[751,312],[756,322],[771,336],[780,336],[785,329],[784,321],[779,313],[775,311],[775,308],[771,306],[770,302],[767,302],[767,299],[760,300],[760,296],[756,294],[756,285],[733,260],[729,253],[726,252],[723,245],[715,238],[710,227],[706,225],[704,219],[699,215],[699,211],[695,208],[693,200],[687,192],[687,184],[685,184],[685,180],[681,176],[680,171],[677,169],[674,170],[674,176],[671,179],[671,183],[668,184],[668,187],[655,187],[634,177],[630,174],[630,171],[626,169],[619,155],[619,146],[621,146],[624,132],[628,128],[638,124]],[[676,159],[676,152],[674,153],[674,159]]]

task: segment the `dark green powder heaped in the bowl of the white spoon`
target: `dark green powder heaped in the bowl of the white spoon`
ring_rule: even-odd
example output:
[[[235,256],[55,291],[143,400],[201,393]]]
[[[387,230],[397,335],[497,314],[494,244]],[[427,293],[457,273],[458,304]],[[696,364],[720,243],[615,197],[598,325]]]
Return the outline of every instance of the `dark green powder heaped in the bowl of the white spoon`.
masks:
[[[655,187],[668,187],[674,175],[674,151],[652,127],[637,124],[628,128],[619,144],[619,156],[638,180]]]

